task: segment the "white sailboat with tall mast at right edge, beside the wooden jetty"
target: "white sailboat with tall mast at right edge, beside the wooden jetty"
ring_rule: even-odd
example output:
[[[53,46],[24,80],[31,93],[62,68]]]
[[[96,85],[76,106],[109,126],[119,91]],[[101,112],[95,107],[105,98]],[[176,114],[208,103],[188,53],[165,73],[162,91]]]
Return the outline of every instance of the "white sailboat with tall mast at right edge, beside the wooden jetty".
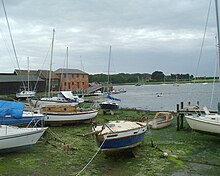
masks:
[[[218,1],[215,0],[216,20],[217,20],[217,40],[218,40],[218,57],[220,61],[220,34],[219,34],[219,17],[218,17]],[[220,135],[220,115],[210,113],[207,107],[204,107],[205,114],[195,113],[185,115],[189,126],[199,132]]]

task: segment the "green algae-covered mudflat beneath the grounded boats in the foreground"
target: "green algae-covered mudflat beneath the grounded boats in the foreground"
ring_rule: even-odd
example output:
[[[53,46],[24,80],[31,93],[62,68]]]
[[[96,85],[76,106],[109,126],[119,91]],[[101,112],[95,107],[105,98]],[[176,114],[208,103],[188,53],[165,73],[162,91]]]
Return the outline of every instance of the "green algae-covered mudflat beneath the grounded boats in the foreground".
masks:
[[[115,115],[100,111],[95,123],[109,120],[150,119],[156,112],[123,109]],[[0,155],[0,175],[77,175],[95,155],[98,147],[91,123],[49,127],[39,143],[30,149]],[[176,120],[167,128],[150,130],[132,154],[109,156],[99,152],[83,176],[219,175],[220,141],[185,129],[176,131]],[[163,152],[168,157],[163,157]],[[205,168],[205,169],[204,169]]]

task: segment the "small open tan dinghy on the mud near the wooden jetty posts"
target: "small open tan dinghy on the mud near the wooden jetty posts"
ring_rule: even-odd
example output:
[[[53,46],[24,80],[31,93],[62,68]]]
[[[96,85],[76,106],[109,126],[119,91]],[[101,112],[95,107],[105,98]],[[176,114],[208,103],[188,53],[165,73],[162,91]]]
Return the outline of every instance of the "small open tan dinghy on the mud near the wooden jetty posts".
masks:
[[[157,112],[153,120],[148,122],[152,129],[161,129],[171,125],[173,115],[170,112]]]

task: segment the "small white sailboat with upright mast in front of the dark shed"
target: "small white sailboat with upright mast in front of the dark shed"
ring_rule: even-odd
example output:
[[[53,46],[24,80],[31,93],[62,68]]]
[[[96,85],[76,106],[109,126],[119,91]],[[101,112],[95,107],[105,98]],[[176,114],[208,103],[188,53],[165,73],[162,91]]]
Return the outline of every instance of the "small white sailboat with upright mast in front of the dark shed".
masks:
[[[30,69],[29,69],[29,57],[27,58],[28,62],[28,89],[22,90],[19,93],[16,93],[16,98],[17,99],[27,99],[27,98],[32,98],[35,97],[36,92],[34,90],[30,90]]]

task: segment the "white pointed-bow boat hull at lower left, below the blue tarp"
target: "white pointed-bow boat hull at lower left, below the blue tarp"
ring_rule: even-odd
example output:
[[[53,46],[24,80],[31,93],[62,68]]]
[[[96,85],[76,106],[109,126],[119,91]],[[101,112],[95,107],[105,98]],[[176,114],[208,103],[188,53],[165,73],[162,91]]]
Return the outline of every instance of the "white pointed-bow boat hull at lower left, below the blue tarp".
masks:
[[[15,151],[37,143],[45,128],[19,128],[0,125],[0,152]]]

